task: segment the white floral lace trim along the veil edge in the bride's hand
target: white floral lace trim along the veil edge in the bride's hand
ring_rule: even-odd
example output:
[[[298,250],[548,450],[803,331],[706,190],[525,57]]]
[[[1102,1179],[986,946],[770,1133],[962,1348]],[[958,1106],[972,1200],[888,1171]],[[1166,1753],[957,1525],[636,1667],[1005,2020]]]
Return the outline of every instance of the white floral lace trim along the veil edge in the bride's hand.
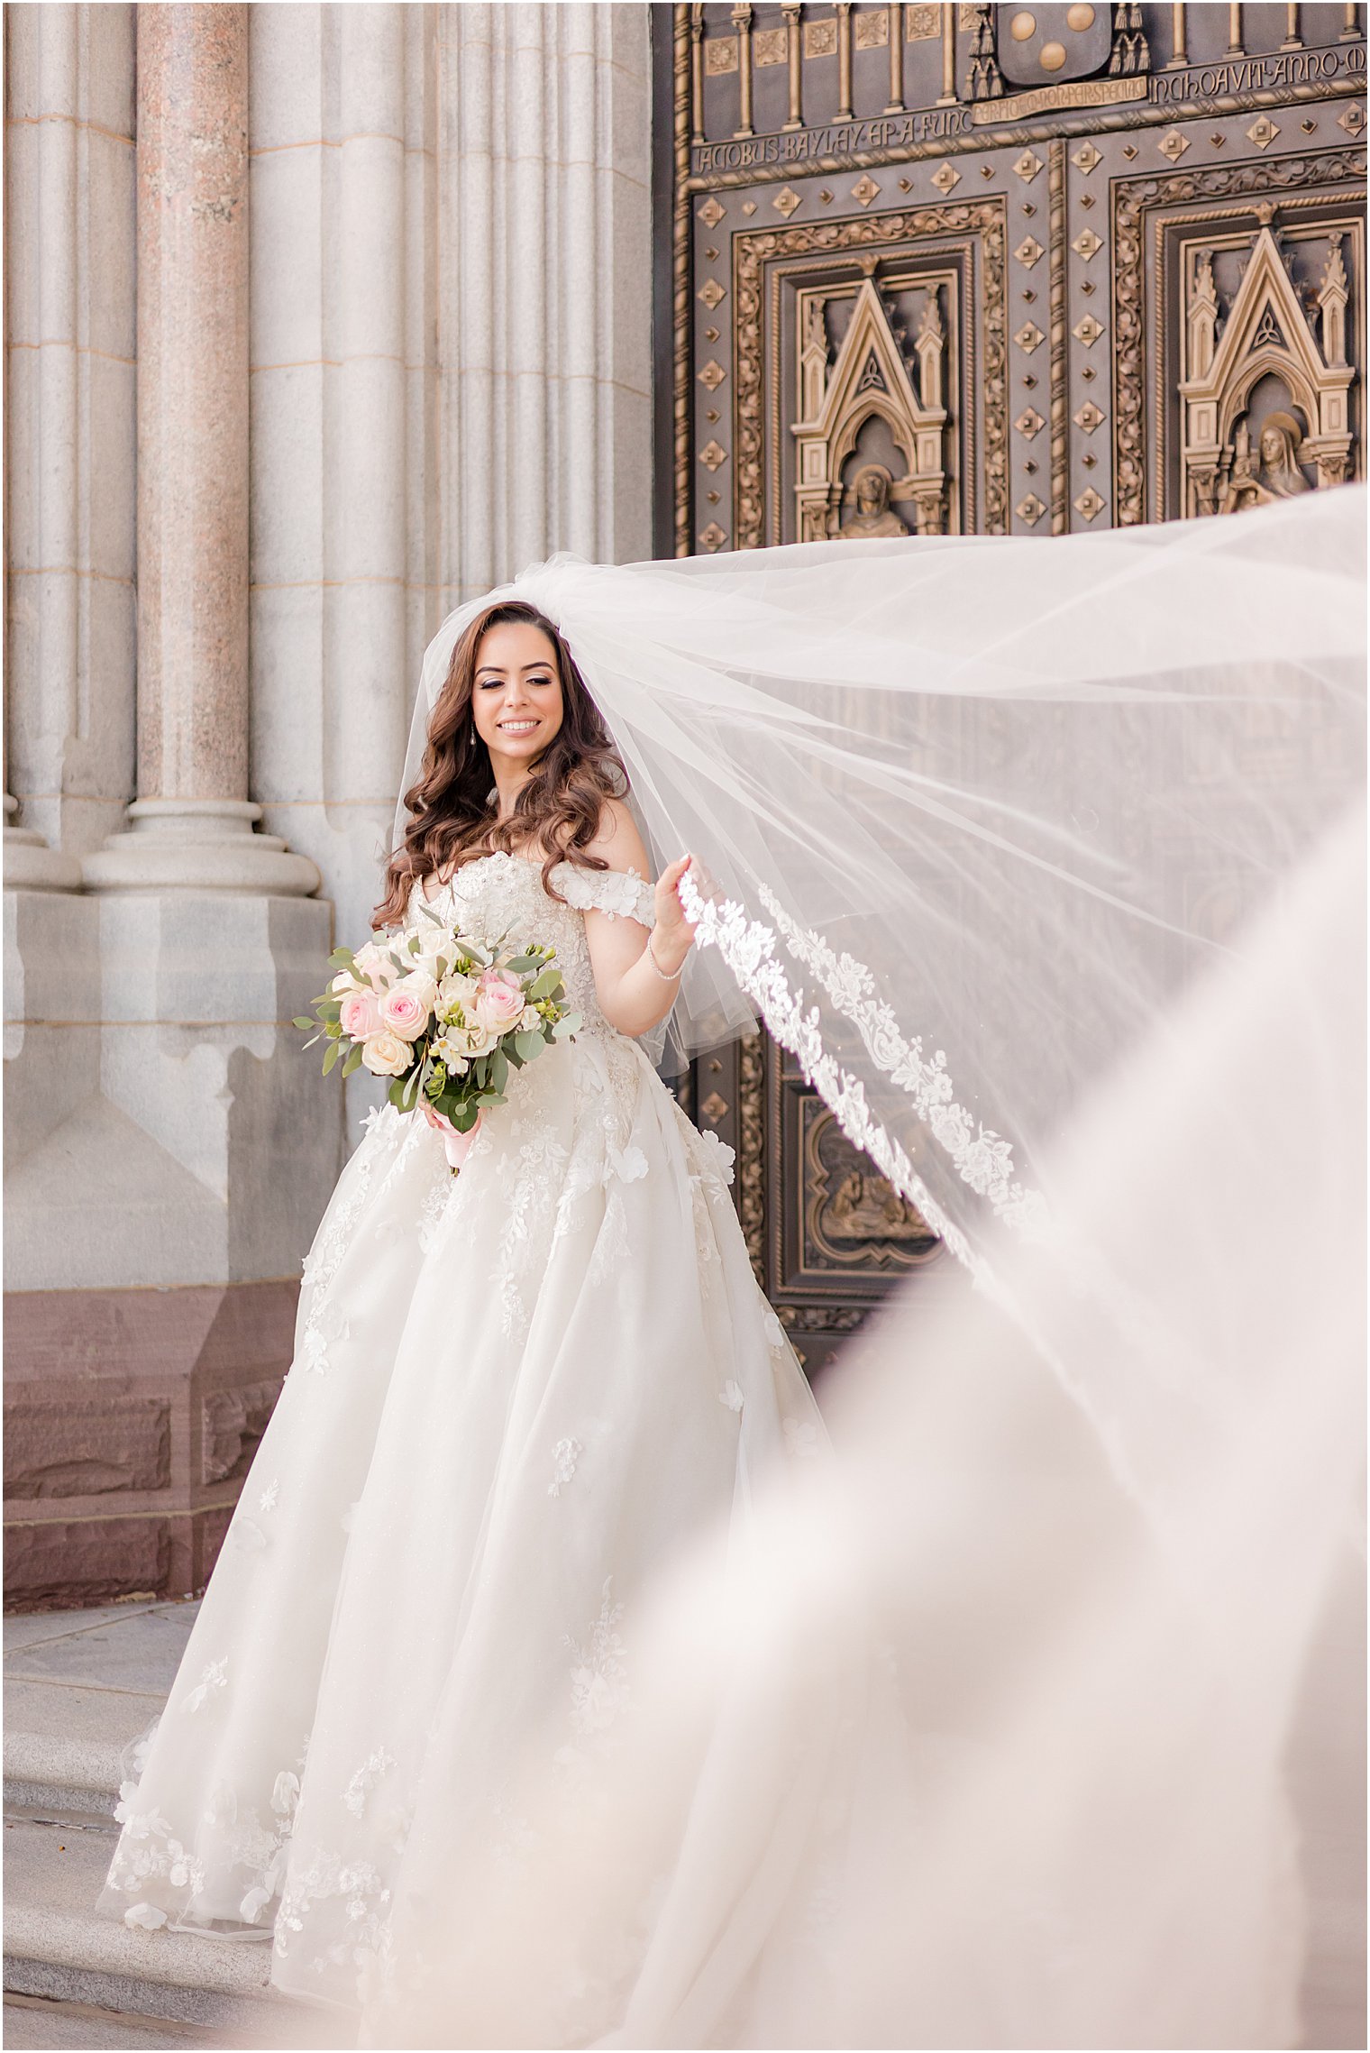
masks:
[[[1046,1199],[1040,1191],[1013,1180],[1009,1141],[978,1125],[956,1102],[941,1049],[929,1061],[917,1037],[904,1039],[892,1008],[876,998],[876,979],[865,963],[857,963],[851,955],[837,955],[820,934],[798,926],[765,885],[761,899],[775,926],[749,920],[747,907],[738,905],[736,899],[703,899],[689,873],[681,879],[681,903],[695,926],[695,940],[706,948],[718,948],[740,987],[755,1000],[771,1037],[798,1059],[804,1080],[829,1105],[847,1139],[878,1164],[900,1197],[919,1207],[933,1232],[972,1271],[976,1281],[989,1285],[991,1271],[984,1258],[948,1219],[904,1148],[872,1113],[865,1102],[865,1086],[824,1049],[818,1008],[804,1010],[804,992],[790,985],[783,967],[775,961],[777,938],[783,938],[790,955],[814,973],[833,1006],[855,1024],[872,1061],[909,1092],[913,1109],[956,1174],[976,1195],[989,1199],[997,1217],[1019,1232],[1040,1234],[1050,1217]]]

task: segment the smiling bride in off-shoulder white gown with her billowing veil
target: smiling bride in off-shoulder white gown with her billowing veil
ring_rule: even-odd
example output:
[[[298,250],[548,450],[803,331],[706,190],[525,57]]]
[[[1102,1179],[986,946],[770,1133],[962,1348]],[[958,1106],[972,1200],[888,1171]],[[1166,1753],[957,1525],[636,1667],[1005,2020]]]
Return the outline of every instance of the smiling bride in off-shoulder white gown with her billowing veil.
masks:
[[[443,624],[379,922],[414,928],[431,899],[476,934],[519,928],[556,948],[585,1024],[517,1074],[455,1178],[451,1135],[371,1115],[123,1792],[107,1907],[275,1934],[277,1985],[361,2008],[377,2045],[1128,2045],[1140,1987],[1165,1998],[1149,2045],[1288,2043],[1278,1755],[1349,1513],[1308,1433],[1347,1408],[1345,1351],[1325,1349],[1319,1410],[1290,1306],[1253,1349],[1228,1316],[1231,1277],[1261,1304],[1245,1265],[1276,1269],[1243,1228],[1259,1156],[1192,1228],[1169,1187],[1204,1109],[1228,1183],[1261,1137],[1210,1072],[1171,1105],[1161,1164],[1132,1162],[1146,1232],[1112,1207],[1198,1045],[1190,994],[1243,963],[1255,916],[1356,811],[1362,577],[1364,493],[1339,489],[1050,546],[556,558]],[[851,1503],[816,1515],[829,1464],[802,1458],[824,1437],[753,1281],[728,1150],[652,1066],[662,1037],[679,1057],[757,1014],[1048,1382],[1021,1456],[978,1339],[952,1347],[911,1308],[894,1382],[917,1433],[876,1435],[872,1505],[847,1449]],[[1134,1068],[1146,1047],[1159,1078]],[[1313,1047],[1280,1059],[1317,1098]],[[1298,1127],[1278,1076],[1255,1100]],[[1081,1201],[1062,1135],[1120,1078],[1126,1148],[1103,1121]],[[1087,1482],[1064,1525],[1062,1464]],[[909,1529],[872,1546],[898,1585],[872,1634],[843,1560],[880,1505]],[[703,1581],[662,1581],[708,1525]],[[1099,1568],[1083,1667],[1058,1630],[1073,1562]],[[986,1577],[1017,1564],[1044,1579],[1032,1614]],[[1151,1616],[1138,1587],[1165,1632],[1118,1642]],[[1169,1753],[1136,1714],[1146,1649]],[[1128,1690],[1075,1745],[1099,1677]],[[986,1753],[1013,1712],[1071,1739],[1054,1780],[1005,1782],[1038,1747]],[[1003,1788],[1062,1803],[1009,1844]],[[1177,1860],[1206,1823],[1212,1862]],[[1120,1860],[1138,1844],[1151,1866]],[[1183,1977],[1157,1973],[1157,1928],[1187,1936]],[[859,2037],[853,1998],[882,1977],[890,2008]],[[1023,2039],[1062,2004],[1071,2035]]]

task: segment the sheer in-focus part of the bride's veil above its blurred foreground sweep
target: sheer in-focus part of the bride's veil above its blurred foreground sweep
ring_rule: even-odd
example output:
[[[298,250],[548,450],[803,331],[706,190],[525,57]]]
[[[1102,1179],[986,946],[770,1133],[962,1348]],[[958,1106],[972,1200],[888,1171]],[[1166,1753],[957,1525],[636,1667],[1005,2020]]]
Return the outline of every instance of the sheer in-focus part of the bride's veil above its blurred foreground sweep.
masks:
[[[558,622],[652,856],[701,862],[677,1055],[763,1016],[986,1277],[1083,1088],[1356,788],[1362,567],[1356,487],[1050,548],[558,556],[488,599]]]

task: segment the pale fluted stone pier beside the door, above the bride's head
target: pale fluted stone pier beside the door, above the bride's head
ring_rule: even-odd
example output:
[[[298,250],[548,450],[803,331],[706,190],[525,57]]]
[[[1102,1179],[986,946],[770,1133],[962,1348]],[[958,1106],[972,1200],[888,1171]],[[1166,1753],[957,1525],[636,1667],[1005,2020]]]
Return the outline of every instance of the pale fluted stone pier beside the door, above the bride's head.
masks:
[[[439,10],[451,604],[558,548],[652,550],[648,16]]]

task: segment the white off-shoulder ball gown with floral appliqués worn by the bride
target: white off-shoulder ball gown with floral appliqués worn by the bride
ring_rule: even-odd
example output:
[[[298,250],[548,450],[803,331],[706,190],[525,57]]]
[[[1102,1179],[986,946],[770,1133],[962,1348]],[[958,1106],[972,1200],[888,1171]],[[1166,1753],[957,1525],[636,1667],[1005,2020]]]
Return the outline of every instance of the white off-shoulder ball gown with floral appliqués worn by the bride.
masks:
[[[519,1862],[529,1735],[593,1772],[632,1702],[654,1573],[744,1513],[757,1472],[822,1445],[730,1152],[595,998],[585,912],[650,926],[652,891],[568,864],[554,881],[568,903],[492,854],[433,899],[470,932],[554,944],[585,1024],[515,1074],[455,1178],[418,1115],[367,1119],[123,1790],[103,1907],[273,1932],[273,1979],[304,1998],[365,2002],[410,1842]]]

